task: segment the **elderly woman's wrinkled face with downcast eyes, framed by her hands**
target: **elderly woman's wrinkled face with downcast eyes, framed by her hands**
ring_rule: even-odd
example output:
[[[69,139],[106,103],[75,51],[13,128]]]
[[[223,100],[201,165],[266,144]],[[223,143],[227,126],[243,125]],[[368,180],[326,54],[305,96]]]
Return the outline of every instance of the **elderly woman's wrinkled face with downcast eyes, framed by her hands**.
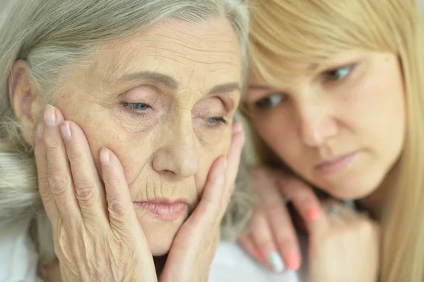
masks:
[[[228,151],[240,98],[240,45],[228,20],[168,20],[104,45],[55,104],[122,163],[153,255],[164,254]]]

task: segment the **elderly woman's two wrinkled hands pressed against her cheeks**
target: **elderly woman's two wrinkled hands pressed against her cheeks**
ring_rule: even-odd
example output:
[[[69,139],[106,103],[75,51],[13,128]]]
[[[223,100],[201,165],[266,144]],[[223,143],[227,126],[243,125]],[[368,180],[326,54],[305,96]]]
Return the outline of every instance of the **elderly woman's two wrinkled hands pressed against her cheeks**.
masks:
[[[166,262],[153,264],[117,156],[101,149],[100,181],[81,128],[64,121],[61,112],[48,105],[37,127],[35,157],[59,264],[47,266],[42,277],[45,281],[207,281],[243,141],[241,124],[234,124],[228,155],[213,163],[201,201],[179,228]]]

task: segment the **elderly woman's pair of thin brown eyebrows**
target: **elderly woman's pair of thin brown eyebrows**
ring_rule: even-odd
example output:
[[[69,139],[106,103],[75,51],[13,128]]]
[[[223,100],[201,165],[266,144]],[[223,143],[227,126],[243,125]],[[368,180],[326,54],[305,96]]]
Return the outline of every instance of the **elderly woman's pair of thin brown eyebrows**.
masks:
[[[132,79],[146,79],[147,81],[153,81],[155,83],[160,83],[163,86],[170,88],[171,90],[177,90],[179,88],[178,81],[172,76],[168,76],[167,74],[160,74],[158,72],[153,71],[141,71],[135,74],[126,74],[119,78],[119,81],[126,81]],[[240,83],[238,82],[229,82],[222,83],[216,86],[213,86],[211,90],[206,94],[207,96],[216,95],[220,93],[230,93],[232,91],[238,90],[240,91]]]

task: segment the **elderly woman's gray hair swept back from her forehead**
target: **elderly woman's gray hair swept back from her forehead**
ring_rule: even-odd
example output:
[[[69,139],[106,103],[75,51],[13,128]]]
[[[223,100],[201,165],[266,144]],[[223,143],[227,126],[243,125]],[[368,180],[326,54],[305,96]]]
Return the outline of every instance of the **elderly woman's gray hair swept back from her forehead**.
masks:
[[[43,264],[55,257],[52,226],[38,193],[33,148],[23,140],[20,132],[26,129],[11,109],[8,76],[14,62],[25,60],[47,104],[60,93],[61,74],[84,64],[82,58],[95,54],[108,40],[167,18],[197,23],[226,16],[240,41],[245,79],[249,15],[242,0],[13,1],[0,28],[0,233],[30,223]],[[236,189],[233,199],[223,220],[223,235],[237,234],[249,215],[245,192]]]

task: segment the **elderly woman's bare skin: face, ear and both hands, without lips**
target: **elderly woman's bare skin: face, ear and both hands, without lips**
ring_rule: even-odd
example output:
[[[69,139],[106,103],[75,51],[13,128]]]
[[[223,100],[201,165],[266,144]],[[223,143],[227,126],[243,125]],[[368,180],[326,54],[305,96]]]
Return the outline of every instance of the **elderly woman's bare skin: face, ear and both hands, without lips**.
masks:
[[[152,255],[169,253],[160,281],[206,281],[244,141],[240,124],[232,124],[240,75],[240,47],[225,18],[167,20],[108,42],[93,62],[61,77],[62,95],[45,110],[25,62],[16,62],[16,116],[35,131],[43,112],[39,137],[25,139],[35,143],[64,280],[97,277],[104,267],[109,278],[153,281]],[[105,150],[113,169],[100,162]],[[129,204],[155,199],[187,204],[172,221]],[[98,259],[102,252],[110,261]],[[134,259],[139,272],[126,271],[122,262]]]

